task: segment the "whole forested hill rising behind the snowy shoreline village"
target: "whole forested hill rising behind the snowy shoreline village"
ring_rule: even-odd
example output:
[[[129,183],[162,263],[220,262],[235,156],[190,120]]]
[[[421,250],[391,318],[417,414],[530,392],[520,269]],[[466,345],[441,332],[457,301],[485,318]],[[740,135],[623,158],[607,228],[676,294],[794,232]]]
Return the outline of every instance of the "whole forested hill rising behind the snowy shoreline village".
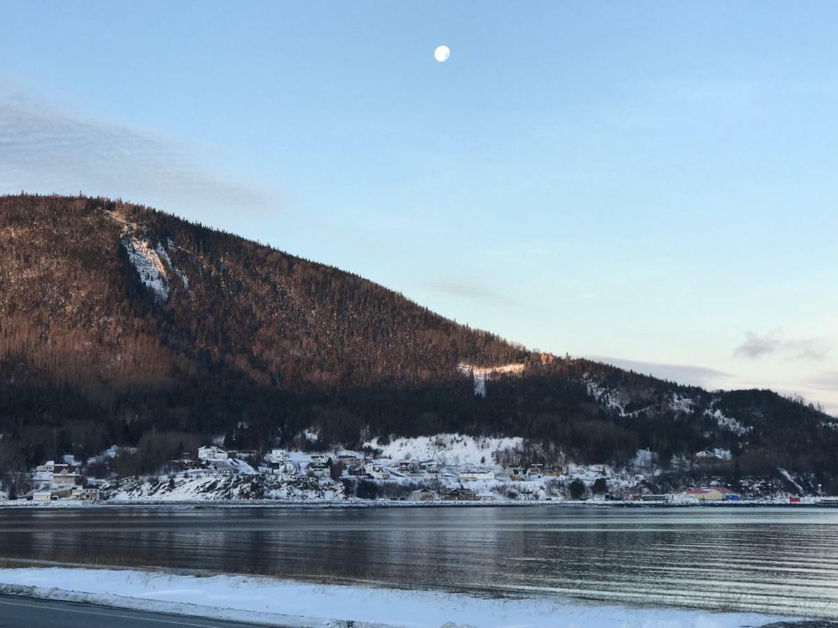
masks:
[[[461,364],[515,368],[487,374],[484,397]],[[724,446],[838,466],[833,420],[768,391],[711,394],[530,353],[150,208],[0,198],[0,455],[85,455],[149,434],[279,445],[307,430],[319,445],[460,431],[592,461]]]

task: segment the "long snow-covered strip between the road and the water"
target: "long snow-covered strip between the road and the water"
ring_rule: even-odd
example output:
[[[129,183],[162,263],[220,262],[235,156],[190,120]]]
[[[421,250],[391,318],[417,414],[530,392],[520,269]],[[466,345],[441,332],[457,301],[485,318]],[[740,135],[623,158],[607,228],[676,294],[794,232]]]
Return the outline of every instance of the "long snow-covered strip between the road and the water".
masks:
[[[732,628],[781,619],[755,613],[625,608],[564,599],[498,599],[363,584],[199,577],[129,569],[0,569],[0,593],[262,625]]]

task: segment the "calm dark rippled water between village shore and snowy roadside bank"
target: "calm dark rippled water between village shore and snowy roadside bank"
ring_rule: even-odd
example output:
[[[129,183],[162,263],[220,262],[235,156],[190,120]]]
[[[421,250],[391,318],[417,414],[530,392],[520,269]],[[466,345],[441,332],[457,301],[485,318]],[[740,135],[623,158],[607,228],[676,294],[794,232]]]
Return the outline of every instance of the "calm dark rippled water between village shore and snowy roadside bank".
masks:
[[[838,509],[0,509],[0,556],[838,614]]]

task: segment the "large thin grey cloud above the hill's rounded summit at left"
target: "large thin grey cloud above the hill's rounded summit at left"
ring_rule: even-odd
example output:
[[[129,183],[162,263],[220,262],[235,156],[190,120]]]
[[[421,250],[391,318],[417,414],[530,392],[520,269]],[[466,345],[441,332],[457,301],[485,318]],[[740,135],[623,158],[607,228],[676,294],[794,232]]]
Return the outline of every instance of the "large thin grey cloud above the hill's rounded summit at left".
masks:
[[[3,85],[5,88],[6,86]],[[162,208],[256,208],[262,193],[150,131],[91,121],[32,95],[0,95],[0,192],[84,193]]]

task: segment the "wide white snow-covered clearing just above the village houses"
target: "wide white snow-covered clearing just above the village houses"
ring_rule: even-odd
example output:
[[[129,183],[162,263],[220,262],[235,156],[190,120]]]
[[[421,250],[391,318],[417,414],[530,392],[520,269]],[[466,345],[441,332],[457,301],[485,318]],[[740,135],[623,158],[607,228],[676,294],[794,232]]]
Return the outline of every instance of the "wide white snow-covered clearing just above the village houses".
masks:
[[[365,446],[382,450],[382,456],[393,460],[437,461],[445,466],[486,466],[494,464],[494,454],[507,449],[522,447],[520,436],[467,436],[460,434],[437,434],[396,438],[387,445],[378,439],[370,440]]]

